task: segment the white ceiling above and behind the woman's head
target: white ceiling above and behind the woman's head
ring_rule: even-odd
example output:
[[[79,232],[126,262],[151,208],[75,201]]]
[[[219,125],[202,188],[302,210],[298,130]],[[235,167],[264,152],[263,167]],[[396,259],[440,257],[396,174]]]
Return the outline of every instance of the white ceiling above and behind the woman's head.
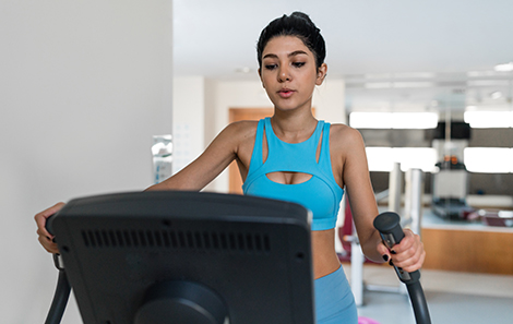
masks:
[[[512,109],[513,72],[493,70],[513,61],[511,0],[174,0],[175,73],[258,80],[261,29],[296,10],[349,110]]]

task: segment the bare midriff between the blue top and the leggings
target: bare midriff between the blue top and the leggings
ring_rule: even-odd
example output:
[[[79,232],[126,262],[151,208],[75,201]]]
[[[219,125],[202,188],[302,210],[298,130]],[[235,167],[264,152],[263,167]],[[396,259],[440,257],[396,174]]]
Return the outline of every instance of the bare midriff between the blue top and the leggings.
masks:
[[[341,266],[335,252],[335,229],[312,230],[313,277],[315,279],[337,271]]]

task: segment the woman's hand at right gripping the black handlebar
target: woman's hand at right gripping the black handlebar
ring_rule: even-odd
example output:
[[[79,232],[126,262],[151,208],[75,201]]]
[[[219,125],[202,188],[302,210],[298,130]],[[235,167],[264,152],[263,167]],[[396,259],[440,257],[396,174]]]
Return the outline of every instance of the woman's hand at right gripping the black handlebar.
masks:
[[[410,229],[404,229],[404,238],[401,243],[389,250],[383,242],[378,245],[378,251],[385,261],[411,273],[422,267],[426,251],[420,237]],[[391,263],[391,265],[392,265]]]

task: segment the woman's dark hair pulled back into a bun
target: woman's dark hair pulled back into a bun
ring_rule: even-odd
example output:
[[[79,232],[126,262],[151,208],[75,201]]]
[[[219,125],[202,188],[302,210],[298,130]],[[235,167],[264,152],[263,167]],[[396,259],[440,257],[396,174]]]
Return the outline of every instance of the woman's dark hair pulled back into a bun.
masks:
[[[256,56],[259,67],[262,68],[262,52],[267,43],[276,36],[296,36],[302,40],[305,46],[313,52],[315,65],[320,68],[326,57],[326,46],[319,29],[310,17],[302,12],[293,12],[290,15],[284,14],[282,17],[272,21],[260,34],[256,44]]]

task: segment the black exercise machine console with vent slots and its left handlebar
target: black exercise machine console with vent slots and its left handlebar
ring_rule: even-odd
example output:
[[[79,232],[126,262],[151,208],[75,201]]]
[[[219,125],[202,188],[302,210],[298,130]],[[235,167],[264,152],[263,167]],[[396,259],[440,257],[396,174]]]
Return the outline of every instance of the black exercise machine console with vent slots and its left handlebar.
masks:
[[[85,324],[311,324],[310,219],[216,193],[73,200],[47,221],[65,268],[46,324],[60,323],[69,284]]]

